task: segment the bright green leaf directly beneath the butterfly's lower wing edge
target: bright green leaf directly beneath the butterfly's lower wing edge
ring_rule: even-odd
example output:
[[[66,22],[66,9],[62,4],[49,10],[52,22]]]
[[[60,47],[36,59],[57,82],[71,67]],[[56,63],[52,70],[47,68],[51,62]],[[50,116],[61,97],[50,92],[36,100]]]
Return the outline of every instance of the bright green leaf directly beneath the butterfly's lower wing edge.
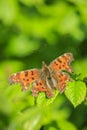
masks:
[[[47,98],[45,93],[39,93],[38,97],[36,98],[36,104],[37,106],[42,106],[42,105],[48,106],[55,100],[57,95],[58,95],[58,90],[55,90],[55,95],[52,98]]]

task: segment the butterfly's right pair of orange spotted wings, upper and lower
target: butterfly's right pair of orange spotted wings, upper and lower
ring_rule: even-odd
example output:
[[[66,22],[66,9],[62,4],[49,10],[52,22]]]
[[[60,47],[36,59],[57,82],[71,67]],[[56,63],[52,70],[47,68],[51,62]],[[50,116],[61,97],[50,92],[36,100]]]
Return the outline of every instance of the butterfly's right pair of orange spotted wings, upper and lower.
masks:
[[[66,82],[71,81],[68,73],[63,72],[62,70],[73,72],[70,63],[74,60],[72,53],[65,53],[62,56],[56,58],[53,62],[50,63],[49,67],[54,71],[56,78],[58,79],[57,88],[61,92],[65,90]]]

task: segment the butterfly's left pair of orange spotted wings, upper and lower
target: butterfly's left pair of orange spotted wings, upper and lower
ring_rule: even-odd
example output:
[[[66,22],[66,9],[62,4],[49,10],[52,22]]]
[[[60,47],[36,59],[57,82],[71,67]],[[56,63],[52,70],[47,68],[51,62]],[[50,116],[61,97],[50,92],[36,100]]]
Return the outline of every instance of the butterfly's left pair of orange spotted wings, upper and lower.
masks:
[[[38,69],[21,71],[9,77],[10,84],[20,83],[23,90],[27,90],[32,83],[32,95],[37,96],[39,92],[46,92],[47,97],[52,97],[52,89],[48,89],[40,78],[41,71]]]

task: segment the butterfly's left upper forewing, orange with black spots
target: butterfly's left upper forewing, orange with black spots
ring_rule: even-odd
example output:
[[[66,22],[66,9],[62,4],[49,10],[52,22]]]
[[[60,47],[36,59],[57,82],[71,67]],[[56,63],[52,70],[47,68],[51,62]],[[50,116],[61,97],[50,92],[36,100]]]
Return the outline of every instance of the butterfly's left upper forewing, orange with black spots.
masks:
[[[9,77],[10,84],[20,83],[23,90],[27,90],[29,85],[40,77],[39,69],[31,69],[26,71],[21,71],[12,74]]]

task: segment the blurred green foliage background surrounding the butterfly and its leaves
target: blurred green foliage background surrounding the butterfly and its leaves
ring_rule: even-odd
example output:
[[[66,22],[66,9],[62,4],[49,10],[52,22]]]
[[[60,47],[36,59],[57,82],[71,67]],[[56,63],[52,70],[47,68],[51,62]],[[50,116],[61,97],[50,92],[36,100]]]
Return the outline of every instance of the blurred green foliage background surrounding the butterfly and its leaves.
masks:
[[[74,109],[62,94],[37,107],[30,91],[8,83],[66,52],[75,73],[87,76],[86,0],[0,0],[0,130],[87,130],[86,101]]]

